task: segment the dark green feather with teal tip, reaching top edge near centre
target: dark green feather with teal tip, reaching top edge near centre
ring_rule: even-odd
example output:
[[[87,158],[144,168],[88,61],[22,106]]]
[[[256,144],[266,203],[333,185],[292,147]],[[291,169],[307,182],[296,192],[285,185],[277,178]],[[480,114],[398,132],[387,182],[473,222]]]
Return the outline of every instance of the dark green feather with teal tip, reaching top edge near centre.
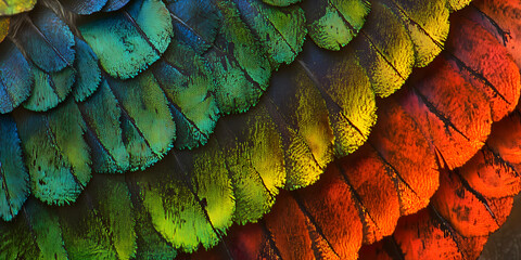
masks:
[[[271,66],[252,31],[229,0],[218,2],[223,26],[204,57],[217,81],[215,98],[224,114],[245,112],[257,103],[271,76]]]

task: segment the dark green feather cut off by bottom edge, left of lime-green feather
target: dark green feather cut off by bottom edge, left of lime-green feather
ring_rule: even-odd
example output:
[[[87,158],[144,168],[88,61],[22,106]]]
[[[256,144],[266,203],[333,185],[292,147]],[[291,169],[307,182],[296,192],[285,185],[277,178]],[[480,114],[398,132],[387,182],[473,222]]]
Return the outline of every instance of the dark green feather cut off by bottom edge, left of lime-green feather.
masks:
[[[131,259],[136,255],[134,208],[127,186],[117,181],[122,178],[93,179],[96,185],[77,205],[60,209],[63,245],[69,258]]]

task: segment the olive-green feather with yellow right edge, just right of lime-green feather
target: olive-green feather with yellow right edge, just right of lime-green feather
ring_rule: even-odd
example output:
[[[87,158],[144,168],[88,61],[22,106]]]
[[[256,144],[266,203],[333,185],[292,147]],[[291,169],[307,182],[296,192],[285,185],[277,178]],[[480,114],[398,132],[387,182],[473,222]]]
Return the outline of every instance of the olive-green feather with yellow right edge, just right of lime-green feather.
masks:
[[[241,120],[246,123],[238,123]],[[269,211],[284,185],[282,140],[276,129],[275,121],[260,107],[216,129],[233,185],[234,222],[257,221]]]

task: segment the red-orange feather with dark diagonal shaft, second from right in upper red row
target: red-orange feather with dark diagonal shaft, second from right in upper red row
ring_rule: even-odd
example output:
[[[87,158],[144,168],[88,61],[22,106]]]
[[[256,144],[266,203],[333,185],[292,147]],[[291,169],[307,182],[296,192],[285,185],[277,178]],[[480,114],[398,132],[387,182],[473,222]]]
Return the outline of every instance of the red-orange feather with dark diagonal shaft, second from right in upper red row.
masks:
[[[454,169],[481,148],[491,131],[492,115],[484,94],[476,93],[454,66],[441,60],[436,70],[444,77],[425,77],[403,104]],[[465,100],[454,91],[465,93]]]

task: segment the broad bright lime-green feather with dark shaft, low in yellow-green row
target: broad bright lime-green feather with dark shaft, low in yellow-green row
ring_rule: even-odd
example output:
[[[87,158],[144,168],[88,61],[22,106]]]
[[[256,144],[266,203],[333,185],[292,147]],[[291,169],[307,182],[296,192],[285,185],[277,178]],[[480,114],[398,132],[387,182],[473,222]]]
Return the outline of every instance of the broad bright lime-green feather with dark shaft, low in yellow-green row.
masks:
[[[208,145],[215,143],[203,150]],[[189,252],[200,244],[205,248],[215,245],[219,240],[216,232],[224,234],[232,223],[233,194],[223,153],[206,151],[211,154],[198,157],[171,153],[152,174],[136,178],[155,230],[175,248]],[[195,174],[186,176],[187,167],[193,167]]]

